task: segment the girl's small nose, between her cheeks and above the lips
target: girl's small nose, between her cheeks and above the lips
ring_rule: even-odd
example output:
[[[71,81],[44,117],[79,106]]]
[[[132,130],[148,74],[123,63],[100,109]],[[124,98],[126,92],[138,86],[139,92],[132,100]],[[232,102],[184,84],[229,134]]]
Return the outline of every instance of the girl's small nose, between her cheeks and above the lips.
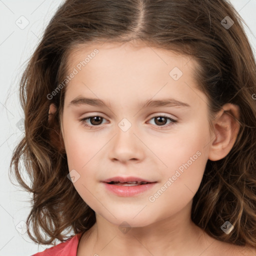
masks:
[[[144,157],[143,143],[134,133],[132,126],[126,131],[117,126],[116,134],[110,141],[108,156],[112,161],[120,162],[142,160]]]

